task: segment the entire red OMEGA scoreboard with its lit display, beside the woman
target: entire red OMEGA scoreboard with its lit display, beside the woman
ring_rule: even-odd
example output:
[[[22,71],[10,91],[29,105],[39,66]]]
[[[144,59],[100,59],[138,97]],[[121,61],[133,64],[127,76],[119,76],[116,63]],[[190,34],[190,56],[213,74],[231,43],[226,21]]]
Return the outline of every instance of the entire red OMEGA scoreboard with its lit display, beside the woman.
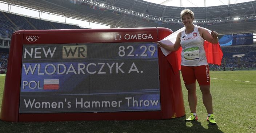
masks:
[[[153,43],[171,33],[170,29],[157,27],[16,31],[11,40],[0,119],[141,120],[184,116],[180,74]]]

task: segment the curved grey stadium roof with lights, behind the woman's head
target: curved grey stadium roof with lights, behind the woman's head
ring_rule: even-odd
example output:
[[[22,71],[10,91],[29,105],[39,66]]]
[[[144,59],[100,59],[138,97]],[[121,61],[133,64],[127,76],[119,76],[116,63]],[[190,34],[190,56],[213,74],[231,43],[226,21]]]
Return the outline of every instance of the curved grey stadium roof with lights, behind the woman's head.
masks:
[[[1,0],[11,5],[104,23],[112,27],[183,27],[180,12],[172,7],[143,0]],[[195,24],[220,34],[256,32],[256,0],[212,7],[190,7]]]

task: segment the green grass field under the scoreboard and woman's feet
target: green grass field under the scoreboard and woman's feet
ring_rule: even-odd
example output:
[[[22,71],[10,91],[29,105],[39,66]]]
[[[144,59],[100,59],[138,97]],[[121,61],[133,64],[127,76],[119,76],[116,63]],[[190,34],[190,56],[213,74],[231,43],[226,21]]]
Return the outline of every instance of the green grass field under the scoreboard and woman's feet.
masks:
[[[0,121],[0,133],[256,133],[256,71],[211,71],[210,77],[217,125],[209,125],[206,121],[207,112],[198,85],[199,120],[192,123],[184,121],[190,111],[187,90],[181,80],[187,116],[168,120],[136,121]],[[0,77],[0,104],[4,78]]]

